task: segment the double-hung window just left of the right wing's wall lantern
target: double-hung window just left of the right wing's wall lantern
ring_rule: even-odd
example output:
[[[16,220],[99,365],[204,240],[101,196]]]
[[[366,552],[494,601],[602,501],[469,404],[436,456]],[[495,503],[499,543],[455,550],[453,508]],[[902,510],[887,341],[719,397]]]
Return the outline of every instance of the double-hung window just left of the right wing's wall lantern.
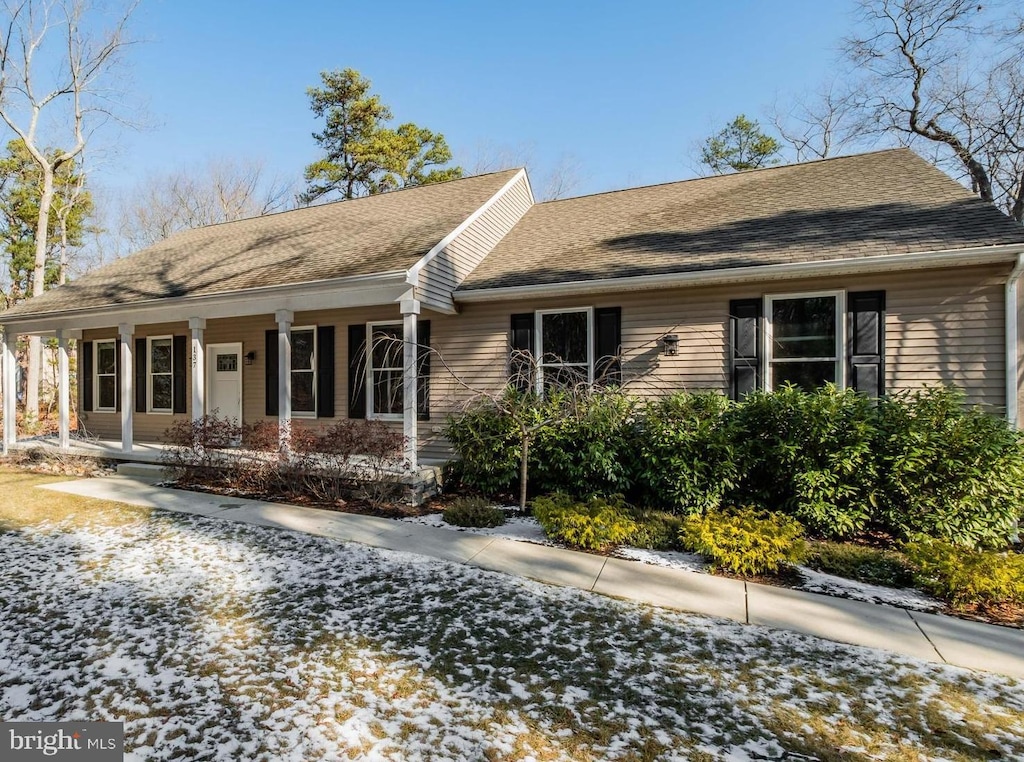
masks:
[[[537,392],[543,394],[552,387],[593,382],[593,310],[590,307],[540,310],[535,320],[540,337]]]

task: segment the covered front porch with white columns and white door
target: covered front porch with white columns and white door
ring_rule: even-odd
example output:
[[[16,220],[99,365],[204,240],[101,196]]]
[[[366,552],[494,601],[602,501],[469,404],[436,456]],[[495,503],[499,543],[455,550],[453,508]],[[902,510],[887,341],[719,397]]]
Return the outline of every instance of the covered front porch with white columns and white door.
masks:
[[[174,422],[174,414],[179,414],[176,420],[190,419],[195,422],[217,410],[220,415],[234,417],[239,421],[254,417],[266,420],[272,415],[271,420],[278,423],[279,452],[287,455],[291,432],[294,430],[293,424],[301,426],[310,423],[303,420],[308,419],[310,415],[302,410],[301,405],[298,411],[294,410],[294,403],[297,398],[303,398],[304,384],[313,385],[313,393],[316,393],[316,382],[310,380],[314,376],[307,378],[302,375],[301,367],[293,367],[293,356],[296,356],[296,351],[300,364],[311,362],[308,350],[303,353],[301,334],[309,334],[309,323],[313,318],[319,316],[323,323],[328,320],[324,315],[328,315],[333,323],[351,323],[359,320],[366,330],[371,331],[372,337],[373,326],[376,325],[374,319],[386,315],[386,319],[382,320],[393,327],[394,333],[397,333],[400,327],[400,347],[391,353],[393,362],[388,369],[389,383],[397,392],[395,396],[399,398],[397,405],[387,410],[385,415],[377,415],[377,411],[371,406],[359,417],[379,417],[388,421],[390,426],[400,426],[404,441],[403,459],[410,471],[417,472],[420,468],[417,404],[423,392],[420,388],[421,303],[416,298],[408,273],[393,271],[338,279],[329,283],[305,284],[302,288],[284,287],[256,291],[258,293],[249,291],[218,295],[216,298],[163,299],[159,303],[151,302],[144,306],[125,305],[121,308],[87,310],[85,313],[78,311],[74,316],[57,312],[37,313],[24,320],[9,319],[3,326],[3,336],[0,338],[0,356],[3,364],[3,452],[7,453],[11,449],[23,447],[43,447],[62,453],[157,462],[163,452],[163,446],[160,443],[160,437],[154,435],[155,427],[160,426],[159,430],[166,428]],[[298,323],[297,313],[300,315]],[[180,335],[161,336],[159,339],[154,337],[154,332],[165,333],[161,329],[168,326],[173,326],[175,328],[173,333]],[[240,326],[249,326],[249,339],[245,347],[242,333],[238,332],[242,331]],[[258,328],[254,329],[253,326]],[[424,332],[429,330],[428,327],[429,323],[423,325]],[[333,337],[334,326],[330,328]],[[353,327],[349,328],[351,333]],[[252,341],[254,331],[259,335],[258,350],[250,348],[256,346]],[[313,331],[315,332],[315,327]],[[344,334],[341,331],[338,333]],[[52,437],[34,437],[19,441],[15,413],[16,347],[18,339],[29,335],[56,339],[58,431]],[[97,341],[98,336],[102,336],[104,340]],[[296,336],[300,336],[298,348],[296,348]],[[339,337],[339,341],[341,340]],[[80,386],[86,387],[85,393],[80,392],[80,398],[90,400],[89,406],[92,405],[91,400],[96,400],[95,409],[81,405],[80,412],[83,408],[89,411],[86,414],[88,417],[93,415],[95,410],[95,418],[103,421],[103,425],[96,429],[93,428],[91,421],[87,421],[86,426],[78,432],[73,432],[71,428],[70,348],[73,341],[79,342],[79,346],[87,349],[89,354],[89,367],[84,372],[80,369],[79,383]],[[155,347],[156,342],[160,343],[159,347]],[[211,347],[217,351],[211,352]],[[244,348],[249,348],[249,351],[244,351]],[[111,368],[96,365],[100,362],[98,357],[100,349],[103,354],[102,363],[110,363]],[[332,346],[329,350],[324,346],[322,350],[323,356],[316,362],[322,365],[330,364],[324,366],[331,372],[330,383],[334,383],[333,379],[337,375],[340,387],[342,374],[340,371],[338,374],[334,373],[336,364],[334,348]],[[362,351],[369,354],[370,350],[371,345],[368,342]],[[140,351],[146,353],[140,355]],[[97,356],[93,356],[93,352]],[[85,353],[80,352],[80,366],[84,365],[81,355]],[[173,373],[170,367],[172,353]],[[157,369],[156,358],[165,356],[168,358],[168,367]],[[147,362],[148,376],[144,370]],[[248,368],[254,362],[258,367]],[[106,373],[108,370],[113,370],[114,366],[116,373]],[[352,390],[358,390],[360,386],[365,393],[365,389],[378,380],[370,372],[369,362],[365,362],[364,368],[367,369],[364,377],[346,378],[350,396]],[[166,370],[167,373],[158,374],[157,370]],[[237,372],[239,385],[234,392],[238,397],[236,410],[225,411],[224,394],[220,393],[219,396],[216,394],[218,382],[214,377],[215,371],[220,370]],[[257,400],[259,389],[247,390],[246,399],[243,401],[243,370],[248,374],[246,383],[265,391],[267,396],[265,411],[262,397],[254,401]],[[315,368],[311,369],[311,373],[315,372]],[[160,375],[161,378],[155,381],[153,377],[156,375]],[[325,372],[323,375],[327,376],[328,373]],[[296,384],[300,388],[296,389]],[[166,400],[161,397],[159,410],[156,403],[158,386],[160,393],[167,394]],[[344,419],[346,414],[343,410],[335,416],[333,387],[330,391],[332,393],[330,418]],[[170,401],[172,396],[173,405]],[[137,415],[137,412],[142,415]],[[160,418],[158,414],[164,417]],[[313,417],[317,417],[317,413],[314,413]],[[140,419],[144,423],[141,430]]]

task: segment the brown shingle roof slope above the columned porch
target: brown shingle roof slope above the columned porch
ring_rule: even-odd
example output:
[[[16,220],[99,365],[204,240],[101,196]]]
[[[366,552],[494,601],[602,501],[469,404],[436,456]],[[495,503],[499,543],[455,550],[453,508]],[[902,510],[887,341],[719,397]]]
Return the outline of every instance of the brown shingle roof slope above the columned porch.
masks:
[[[15,305],[0,321],[408,269],[517,171],[186,230]]]

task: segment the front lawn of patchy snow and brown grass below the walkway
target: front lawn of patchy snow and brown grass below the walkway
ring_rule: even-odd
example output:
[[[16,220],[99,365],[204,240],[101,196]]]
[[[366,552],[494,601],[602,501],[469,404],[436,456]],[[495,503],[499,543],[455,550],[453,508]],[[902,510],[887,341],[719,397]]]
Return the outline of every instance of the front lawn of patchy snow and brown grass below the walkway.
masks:
[[[1010,678],[61,499],[0,504],[0,720],[130,759],[1024,758]]]

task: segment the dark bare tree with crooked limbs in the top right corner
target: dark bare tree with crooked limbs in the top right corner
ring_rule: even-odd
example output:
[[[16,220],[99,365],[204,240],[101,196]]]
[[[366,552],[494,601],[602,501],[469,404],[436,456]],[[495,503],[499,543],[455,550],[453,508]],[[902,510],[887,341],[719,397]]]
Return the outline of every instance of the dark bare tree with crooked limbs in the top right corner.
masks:
[[[861,0],[847,41],[865,73],[858,108],[879,133],[939,149],[984,201],[1024,219],[1024,29],[976,0]]]

